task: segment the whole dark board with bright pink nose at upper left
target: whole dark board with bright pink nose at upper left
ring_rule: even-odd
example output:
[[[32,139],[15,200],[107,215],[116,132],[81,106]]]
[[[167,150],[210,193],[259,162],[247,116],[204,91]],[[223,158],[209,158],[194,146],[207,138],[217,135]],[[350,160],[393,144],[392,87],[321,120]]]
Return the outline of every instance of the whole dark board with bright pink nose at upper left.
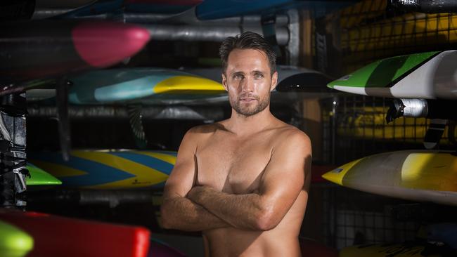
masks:
[[[108,67],[140,51],[149,37],[147,29],[120,22],[4,22],[0,25],[0,82]]]

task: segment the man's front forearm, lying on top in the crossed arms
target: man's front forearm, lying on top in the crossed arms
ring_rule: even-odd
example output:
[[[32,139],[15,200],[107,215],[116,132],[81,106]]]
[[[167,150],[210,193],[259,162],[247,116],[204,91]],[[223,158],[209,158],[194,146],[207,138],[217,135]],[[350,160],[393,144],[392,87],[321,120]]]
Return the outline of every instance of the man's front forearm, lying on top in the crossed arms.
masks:
[[[264,221],[269,213],[262,202],[262,196],[255,193],[231,195],[212,190],[210,187],[200,188],[201,190],[194,190],[189,198],[210,213],[238,229],[266,230]]]

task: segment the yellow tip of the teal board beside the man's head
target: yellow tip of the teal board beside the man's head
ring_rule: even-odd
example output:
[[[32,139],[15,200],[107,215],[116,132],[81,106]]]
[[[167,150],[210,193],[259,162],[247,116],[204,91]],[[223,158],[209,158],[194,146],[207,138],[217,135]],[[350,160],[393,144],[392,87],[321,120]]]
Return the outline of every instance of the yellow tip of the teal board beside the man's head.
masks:
[[[211,79],[193,76],[176,76],[160,81],[153,88],[154,93],[173,93],[187,91],[191,93],[224,93],[222,84]]]

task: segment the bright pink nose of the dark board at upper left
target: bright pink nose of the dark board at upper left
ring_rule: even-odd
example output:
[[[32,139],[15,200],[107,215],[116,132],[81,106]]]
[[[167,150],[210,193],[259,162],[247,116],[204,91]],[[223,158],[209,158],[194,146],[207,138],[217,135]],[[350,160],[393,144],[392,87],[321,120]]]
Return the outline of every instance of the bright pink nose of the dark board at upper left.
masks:
[[[77,53],[94,67],[113,65],[138,53],[149,38],[147,29],[117,22],[82,22],[72,29]]]

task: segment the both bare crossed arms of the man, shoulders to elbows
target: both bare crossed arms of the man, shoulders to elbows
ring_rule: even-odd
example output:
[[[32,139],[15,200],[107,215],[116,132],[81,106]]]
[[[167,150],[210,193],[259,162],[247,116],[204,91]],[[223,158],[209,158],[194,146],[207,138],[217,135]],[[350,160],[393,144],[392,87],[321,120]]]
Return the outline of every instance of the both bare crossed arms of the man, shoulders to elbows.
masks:
[[[273,149],[259,192],[231,195],[209,186],[195,186],[192,141],[189,132],[165,186],[161,210],[164,228],[199,231],[230,226],[271,230],[295,202],[309,175],[311,144],[304,134],[295,132]]]

